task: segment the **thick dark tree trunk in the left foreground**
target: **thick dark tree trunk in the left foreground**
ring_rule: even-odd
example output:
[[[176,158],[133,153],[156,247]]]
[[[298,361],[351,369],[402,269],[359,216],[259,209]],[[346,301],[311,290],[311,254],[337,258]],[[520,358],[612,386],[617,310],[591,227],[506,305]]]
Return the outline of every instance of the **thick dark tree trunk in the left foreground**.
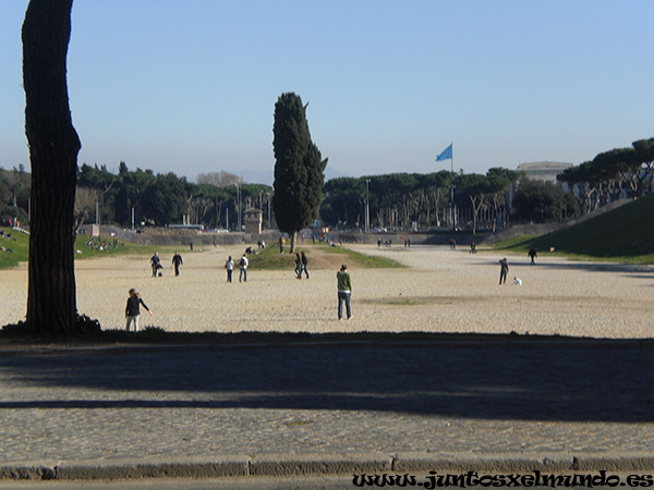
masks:
[[[31,0],[23,23],[25,133],[32,163],[26,326],[76,327],[74,205],[80,139],[66,87],[72,0]]]

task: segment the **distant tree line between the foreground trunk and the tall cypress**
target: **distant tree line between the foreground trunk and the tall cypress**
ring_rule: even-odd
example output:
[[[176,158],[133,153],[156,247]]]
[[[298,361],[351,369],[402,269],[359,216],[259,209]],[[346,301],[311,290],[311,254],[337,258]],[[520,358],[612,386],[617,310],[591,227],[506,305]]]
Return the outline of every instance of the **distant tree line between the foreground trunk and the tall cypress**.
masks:
[[[271,191],[263,184],[244,184],[227,172],[201,174],[198,183],[191,183],[172,172],[131,171],[125,162],[120,162],[118,174],[106,166],[84,163],[77,177],[75,217],[78,225],[95,222],[97,210],[100,223],[130,226],[134,212],[136,226],[185,221],[226,228],[229,220],[229,228],[234,229],[239,204],[241,213],[250,208],[265,210]],[[268,224],[265,211],[264,222]]]

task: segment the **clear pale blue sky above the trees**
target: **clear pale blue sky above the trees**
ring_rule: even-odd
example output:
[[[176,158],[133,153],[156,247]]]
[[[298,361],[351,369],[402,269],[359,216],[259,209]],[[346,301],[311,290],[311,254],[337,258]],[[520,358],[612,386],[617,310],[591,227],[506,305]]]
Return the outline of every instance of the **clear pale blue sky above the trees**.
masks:
[[[5,169],[29,166],[26,5],[0,1]],[[343,174],[449,170],[451,142],[467,173],[578,164],[654,136],[653,19],[651,0],[75,0],[78,163],[271,175],[294,91]]]

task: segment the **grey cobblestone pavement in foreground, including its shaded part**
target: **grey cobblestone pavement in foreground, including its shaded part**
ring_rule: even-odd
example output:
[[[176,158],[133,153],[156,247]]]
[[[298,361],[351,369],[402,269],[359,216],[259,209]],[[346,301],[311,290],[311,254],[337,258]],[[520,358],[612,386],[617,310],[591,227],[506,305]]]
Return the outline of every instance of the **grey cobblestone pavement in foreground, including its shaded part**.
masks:
[[[0,353],[0,468],[654,454],[654,347],[374,341]]]

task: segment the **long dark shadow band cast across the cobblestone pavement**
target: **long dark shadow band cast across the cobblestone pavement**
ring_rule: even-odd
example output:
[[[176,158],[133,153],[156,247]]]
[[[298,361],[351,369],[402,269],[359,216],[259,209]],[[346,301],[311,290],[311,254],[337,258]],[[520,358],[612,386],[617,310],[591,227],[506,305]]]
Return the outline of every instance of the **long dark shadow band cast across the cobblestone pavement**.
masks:
[[[181,345],[182,339],[196,343]],[[654,343],[649,340],[243,333],[177,341],[75,348],[4,345],[0,393],[11,393],[4,385],[20,384],[38,388],[39,396],[4,395],[0,411],[247,407],[654,420]]]

